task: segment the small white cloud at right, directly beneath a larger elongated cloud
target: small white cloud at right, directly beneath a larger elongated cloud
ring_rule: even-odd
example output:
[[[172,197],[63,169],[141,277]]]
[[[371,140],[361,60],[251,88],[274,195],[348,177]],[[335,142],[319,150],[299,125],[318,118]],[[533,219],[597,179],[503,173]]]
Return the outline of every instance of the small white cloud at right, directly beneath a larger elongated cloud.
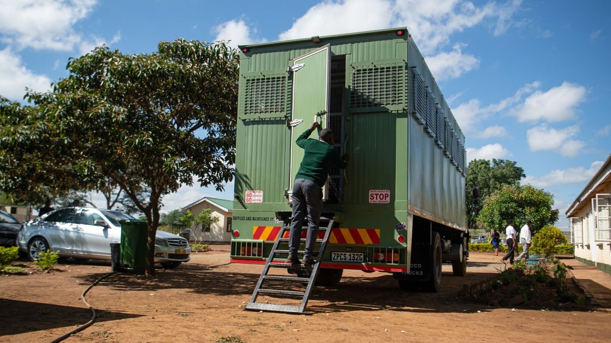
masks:
[[[577,125],[557,130],[542,124],[529,129],[526,136],[531,151],[552,150],[566,157],[575,157],[585,146],[581,140],[571,139],[578,133]]]

